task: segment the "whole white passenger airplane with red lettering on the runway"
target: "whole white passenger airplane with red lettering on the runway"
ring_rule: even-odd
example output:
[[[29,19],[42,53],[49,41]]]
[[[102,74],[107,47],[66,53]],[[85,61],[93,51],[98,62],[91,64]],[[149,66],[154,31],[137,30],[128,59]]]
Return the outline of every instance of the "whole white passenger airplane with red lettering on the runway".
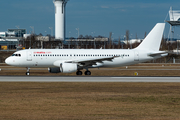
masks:
[[[5,60],[11,66],[48,68],[50,73],[91,75],[89,68],[121,67],[167,56],[159,51],[165,23],[157,23],[142,43],[134,49],[26,49],[13,53]]]

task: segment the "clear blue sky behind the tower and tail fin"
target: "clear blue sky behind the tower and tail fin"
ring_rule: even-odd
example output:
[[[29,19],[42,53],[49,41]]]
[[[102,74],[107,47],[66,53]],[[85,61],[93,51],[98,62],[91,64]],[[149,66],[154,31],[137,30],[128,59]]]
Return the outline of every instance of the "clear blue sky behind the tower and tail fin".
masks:
[[[157,22],[164,22],[170,6],[180,10],[179,0],[70,0],[66,7],[66,37],[82,35],[123,37],[126,30],[131,37],[143,38]],[[8,28],[27,29],[50,34],[55,15],[52,0],[0,0],[0,31]],[[169,17],[167,18],[167,20]],[[179,28],[176,28],[177,30]],[[169,31],[166,25],[165,34]],[[55,33],[55,32],[54,32]],[[178,33],[176,33],[178,34]]]

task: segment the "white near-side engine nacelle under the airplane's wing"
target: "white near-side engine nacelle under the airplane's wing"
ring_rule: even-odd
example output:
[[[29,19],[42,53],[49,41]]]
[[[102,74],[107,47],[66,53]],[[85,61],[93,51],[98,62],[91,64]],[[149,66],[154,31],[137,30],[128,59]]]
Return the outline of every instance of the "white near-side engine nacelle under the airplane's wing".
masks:
[[[74,63],[61,63],[60,70],[62,73],[73,73],[77,71],[77,64]]]

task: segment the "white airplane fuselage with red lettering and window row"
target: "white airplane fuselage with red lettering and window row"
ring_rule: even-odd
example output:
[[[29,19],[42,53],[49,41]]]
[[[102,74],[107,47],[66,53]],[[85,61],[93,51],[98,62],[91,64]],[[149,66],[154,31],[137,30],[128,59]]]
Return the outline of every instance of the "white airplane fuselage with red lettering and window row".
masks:
[[[6,63],[18,67],[55,67],[54,62],[57,60],[62,62],[78,61],[108,58],[110,56],[115,56],[115,58],[112,61],[97,62],[97,65],[92,67],[120,67],[155,59],[148,56],[146,51],[135,49],[27,49],[17,51],[14,54],[20,54],[20,56],[10,56],[6,59]]]

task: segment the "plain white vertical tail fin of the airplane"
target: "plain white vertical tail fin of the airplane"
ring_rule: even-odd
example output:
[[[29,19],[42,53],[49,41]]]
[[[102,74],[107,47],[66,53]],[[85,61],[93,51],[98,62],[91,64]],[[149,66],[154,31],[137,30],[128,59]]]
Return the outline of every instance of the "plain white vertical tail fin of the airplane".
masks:
[[[165,23],[157,23],[143,42],[135,49],[159,51]]]

